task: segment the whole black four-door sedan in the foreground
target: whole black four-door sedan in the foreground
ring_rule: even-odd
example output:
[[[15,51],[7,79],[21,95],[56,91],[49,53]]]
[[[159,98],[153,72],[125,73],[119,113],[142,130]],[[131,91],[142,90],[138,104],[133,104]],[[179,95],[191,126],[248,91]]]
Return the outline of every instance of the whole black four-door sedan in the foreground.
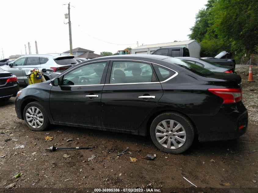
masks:
[[[150,134],[168,153],[187,150],[194,134],[200,141],[238,138],[248,124],[240,76],[161,55],[91,59],[17,96],[17,117],[32,130],[51,123]]]

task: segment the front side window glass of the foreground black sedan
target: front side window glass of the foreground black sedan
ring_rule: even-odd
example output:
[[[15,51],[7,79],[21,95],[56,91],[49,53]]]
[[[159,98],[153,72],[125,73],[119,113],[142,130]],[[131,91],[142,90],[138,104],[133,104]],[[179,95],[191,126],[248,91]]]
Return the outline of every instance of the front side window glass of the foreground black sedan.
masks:
[[[100,84],[106,62],[87,64],[64,75],[62,85]]]

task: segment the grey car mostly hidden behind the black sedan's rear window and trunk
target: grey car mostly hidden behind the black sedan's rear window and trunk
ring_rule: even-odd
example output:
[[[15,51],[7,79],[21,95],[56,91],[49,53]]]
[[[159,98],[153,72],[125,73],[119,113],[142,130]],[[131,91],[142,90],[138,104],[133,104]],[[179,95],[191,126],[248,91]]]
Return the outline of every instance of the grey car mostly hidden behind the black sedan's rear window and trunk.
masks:
[[[194,63],[198,66],[202,66],[213,72],[225,72],[225,73],[234,73],[234,67],[230,66],[221,66],[214,62],[205,59],[191,58],[191,57],[176,57],[178,59]]]

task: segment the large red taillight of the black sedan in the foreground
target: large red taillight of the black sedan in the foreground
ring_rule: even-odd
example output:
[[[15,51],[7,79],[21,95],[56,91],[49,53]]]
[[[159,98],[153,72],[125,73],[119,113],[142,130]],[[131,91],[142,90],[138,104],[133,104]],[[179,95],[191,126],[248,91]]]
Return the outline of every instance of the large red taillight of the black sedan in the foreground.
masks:
[[[242,100],[240,88],[209,88],[208,91],[222,98],[223,103],[236,103]]]

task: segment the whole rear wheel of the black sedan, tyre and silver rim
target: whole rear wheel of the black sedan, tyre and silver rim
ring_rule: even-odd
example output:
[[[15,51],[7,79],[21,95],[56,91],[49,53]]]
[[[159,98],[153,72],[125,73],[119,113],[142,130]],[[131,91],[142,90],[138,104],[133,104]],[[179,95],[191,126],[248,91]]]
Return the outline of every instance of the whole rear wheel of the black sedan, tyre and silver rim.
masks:
[[[151,139],[160,150],[178,154],[186,151],[194,140],[194,127],[179,113],[162,113],[151,123]]]

